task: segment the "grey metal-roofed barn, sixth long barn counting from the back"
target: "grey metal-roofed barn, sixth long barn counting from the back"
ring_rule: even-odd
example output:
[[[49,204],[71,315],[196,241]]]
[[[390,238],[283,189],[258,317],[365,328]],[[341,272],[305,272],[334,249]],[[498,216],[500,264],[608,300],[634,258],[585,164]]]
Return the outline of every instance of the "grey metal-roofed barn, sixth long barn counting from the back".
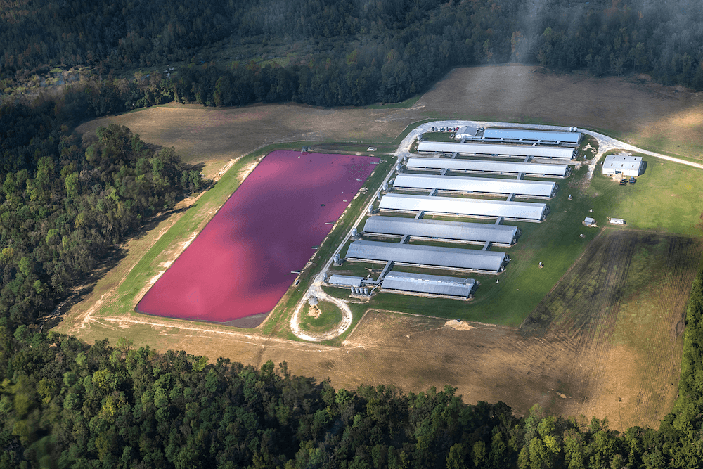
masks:
[[[466,221],[428,220],[403,217],[369,217],[363,226],[364,234],[382,236],[413,236],[415,238],[437,238],[458,240],[465,243],[513,245],[520,236],[517,226]]]

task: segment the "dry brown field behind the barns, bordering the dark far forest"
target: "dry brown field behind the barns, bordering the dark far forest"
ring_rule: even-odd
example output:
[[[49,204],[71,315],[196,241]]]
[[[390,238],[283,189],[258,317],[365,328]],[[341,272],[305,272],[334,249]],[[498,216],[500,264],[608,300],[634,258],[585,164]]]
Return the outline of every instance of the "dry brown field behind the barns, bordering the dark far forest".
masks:
[[[424,119],[509,120],[605,129],[650,150],[703,159],[703,94],[652,83],[557,75],[527,65],[459,68],[409,109],[321,109],[299,104],[204,108],[167,104],[86,122],[125,125],[144,141],[173,146],[212,177],[233,158],[269,143],[392,141]]]

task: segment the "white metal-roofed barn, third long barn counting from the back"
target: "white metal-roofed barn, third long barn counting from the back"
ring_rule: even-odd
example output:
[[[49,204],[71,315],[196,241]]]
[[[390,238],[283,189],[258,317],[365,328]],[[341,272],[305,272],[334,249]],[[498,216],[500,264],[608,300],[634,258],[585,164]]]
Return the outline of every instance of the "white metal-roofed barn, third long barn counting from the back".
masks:
[[[409,158],[408,169],[463,171],[481,174],[524,174],[525,176],[566,177],[571,172],[569,165],[550,163],[523,163],[489,160],[457,160],[456,158]]]

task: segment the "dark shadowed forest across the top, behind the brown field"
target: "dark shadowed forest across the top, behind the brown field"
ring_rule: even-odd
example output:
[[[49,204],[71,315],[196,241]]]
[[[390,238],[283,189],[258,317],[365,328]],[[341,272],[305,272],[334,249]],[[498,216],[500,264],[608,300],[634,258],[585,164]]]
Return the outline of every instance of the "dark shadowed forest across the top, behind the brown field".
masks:
[[[32,72],[86,65],[95,75],[72,86],[80,96],[70,100],[86,101],[86,117],[165,101],[402,101],[452,67],[506,62],[595,76],[646,72],[664,84],[703,89],[703,4],[688,0],[0,0],[0,6],[0,89]],[[261,54],[214,60],[215,49],[271,44],[280,46],[282,63],[262,61]],[[171,63],[179,65],[165,70]],[[149,77],[115,78],[155,67],[160,72]]]

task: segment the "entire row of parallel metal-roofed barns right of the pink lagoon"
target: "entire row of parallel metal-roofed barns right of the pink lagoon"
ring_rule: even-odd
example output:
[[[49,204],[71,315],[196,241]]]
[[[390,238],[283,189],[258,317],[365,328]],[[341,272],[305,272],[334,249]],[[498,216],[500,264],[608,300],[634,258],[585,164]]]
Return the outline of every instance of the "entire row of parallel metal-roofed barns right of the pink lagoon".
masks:
[[[551,131],[536,136],[533,131],[489,130],[474,132],[475,139],[481,137],[480,143],[420,141],[418,153],[432,156],[413,156],[404,167],[396,167],[398,174],[389,181],[392,187],[384,186],[378,209],[371,207],[363,231],[359,230],[363,237],[352,240],[347,249],[349,262],[385,264],[379,278],[332,276],[330,284],[350,287],[361,295],[382,287],[413,295],[468,299],[479,284],[473,278],[411,274],[392,268],[502,272],[510,256],[491,247],[510,247],[520,237],[518,226],[503,222],[539,223],[549,213],[546,203],[513,199],[553,198],[559,186],[544,179],[565,178],[570,173],[567,164],[532,162],[532,158],[572,160],[581,134]],[[505,143],[486,143],[498,140]],[[425,219],[426,215],[434,219]],[[456,221],[456,217],[476,220]],[[469,248],[469,244],[482,248]]]

